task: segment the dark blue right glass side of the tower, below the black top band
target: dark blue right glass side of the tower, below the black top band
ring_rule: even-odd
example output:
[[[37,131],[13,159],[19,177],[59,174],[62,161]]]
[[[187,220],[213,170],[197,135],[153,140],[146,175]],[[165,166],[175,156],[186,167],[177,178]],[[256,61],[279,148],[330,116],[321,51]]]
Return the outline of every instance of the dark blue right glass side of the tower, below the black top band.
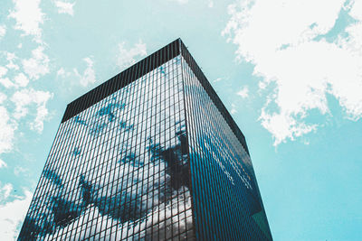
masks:
[[[249,154],[183,59],[197,240],[271,240]]]

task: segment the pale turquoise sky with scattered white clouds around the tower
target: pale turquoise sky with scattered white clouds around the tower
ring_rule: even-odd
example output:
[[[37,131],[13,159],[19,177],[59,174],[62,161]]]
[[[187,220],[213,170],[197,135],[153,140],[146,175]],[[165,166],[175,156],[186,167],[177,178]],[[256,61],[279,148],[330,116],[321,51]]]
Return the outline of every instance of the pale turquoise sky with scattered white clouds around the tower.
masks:
[[[362,240],[361,0],[0,6],[1,240],[66,105],[179,37],[246,137],[274,240]]]

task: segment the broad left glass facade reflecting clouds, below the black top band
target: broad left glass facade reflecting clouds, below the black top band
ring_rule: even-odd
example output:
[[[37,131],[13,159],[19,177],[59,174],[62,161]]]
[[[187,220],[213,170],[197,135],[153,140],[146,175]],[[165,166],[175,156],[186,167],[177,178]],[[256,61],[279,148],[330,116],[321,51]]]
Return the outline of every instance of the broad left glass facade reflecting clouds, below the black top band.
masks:
[[[192,239],[184,107],[178,56],[62,122],[19,240]]]

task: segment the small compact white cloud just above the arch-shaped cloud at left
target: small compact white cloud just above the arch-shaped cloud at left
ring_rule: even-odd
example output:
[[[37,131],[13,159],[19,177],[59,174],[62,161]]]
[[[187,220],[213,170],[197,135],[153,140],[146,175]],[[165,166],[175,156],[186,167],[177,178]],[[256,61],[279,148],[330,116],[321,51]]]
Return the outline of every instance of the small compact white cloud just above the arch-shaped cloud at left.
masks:
[[[30,59],[22,60],[24,72],[30,79],[39,79],[49,73],[49,58],[43,51],[43,46],[39,46],[32,51],[32,57]]]

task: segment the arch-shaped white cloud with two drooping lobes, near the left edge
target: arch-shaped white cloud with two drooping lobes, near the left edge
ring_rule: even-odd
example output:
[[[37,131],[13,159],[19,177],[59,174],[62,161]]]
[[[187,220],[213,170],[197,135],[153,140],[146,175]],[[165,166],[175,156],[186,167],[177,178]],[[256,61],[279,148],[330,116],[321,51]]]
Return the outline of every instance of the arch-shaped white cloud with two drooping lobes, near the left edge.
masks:
[[[46,103],[51,98],[52,94],[48,91],[34,90],[33,88],[16,91],[11,97],[11,101],[15,105],[14,118],[20,119],[26,116],[29,112],[29,105],[36,104],[35,119],[30,127],[41,133],[43,131],[43,122],[49,114]]]

